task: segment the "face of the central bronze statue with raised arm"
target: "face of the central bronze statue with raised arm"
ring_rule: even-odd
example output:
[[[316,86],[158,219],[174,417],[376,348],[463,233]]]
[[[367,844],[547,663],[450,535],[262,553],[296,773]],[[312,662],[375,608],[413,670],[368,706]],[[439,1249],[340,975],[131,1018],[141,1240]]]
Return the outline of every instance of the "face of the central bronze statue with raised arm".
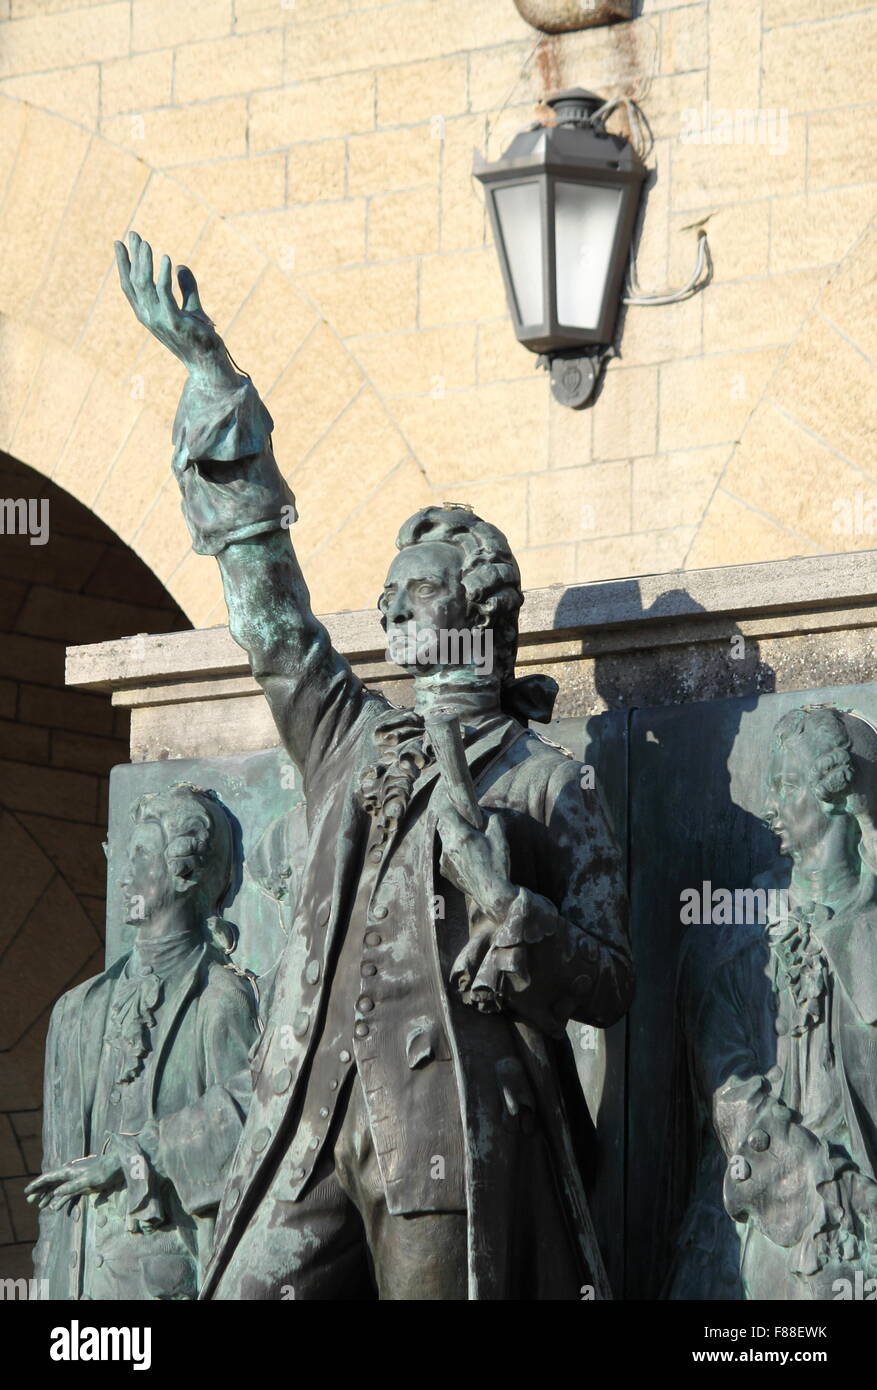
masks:
[[[378,607],[386,620],[391,659],[414,673],[427,674],[457,652],[442,634],[461,632],[470,607],[460,578],[460,553],[446,541],[421,541],[400,550],[389,567]]]

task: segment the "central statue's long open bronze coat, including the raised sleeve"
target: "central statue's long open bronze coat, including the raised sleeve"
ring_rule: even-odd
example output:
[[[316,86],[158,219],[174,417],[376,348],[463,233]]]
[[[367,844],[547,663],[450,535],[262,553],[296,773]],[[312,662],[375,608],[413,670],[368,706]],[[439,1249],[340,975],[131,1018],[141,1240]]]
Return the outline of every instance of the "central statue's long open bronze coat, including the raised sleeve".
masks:
[[[275,973],[254,1059],[254,1097],[222,1198],[203,1297],[215,1289],[290,1138],[325,1016],[332,952],[349,922],[368,833],[357,788],[363,770],[379,760],[377,723],[389,709],[353,674],[310,609],[288,530],[293,499],[277,470],[270,431],[271,418],[249,382],[236,391],[203,391],[190,381],[174,428],[174,470],[195,549],[218,557],[231,632],[249,653],[279,735],[302,770],[310,831],[299,910]],[[436,881],[435,767],[414,784],[378,873],[407,865],[413,901],[406,908],[417,915],[418,930],[428,920],[432,949],[424,969],[438,976],[464,1125],[468,1297],[514,1297],[521,1261],[538,1266],[536,1287],[539,1272],[550,1286],[552,1243],[560,1240],[577,1251],[581,1286],[607,1297],[567,1123],[567,1099],[575,1097],[562,1094],[555,1054],[563,1052],[570,1019],[606,1027],[631,999],[620,853],[599,792],[582,790],[588,780],[581,766],[516,720],[493,720],[491,733],[468,745],[467,759],[482,805],[502,808],[510,878],[523,888],[518,917],[506,923],[527,942],[530,970],[514,1012],[482,1015],[449,987],[448,947],[459,947],[468,926],[463,895]],[[443,919],[432,913],[436,891],[448,903]],[[413,1072],[404,1097],[393,1099],[403,1150],[416,1133],[417,1093]],[[541,1122],[552,1175],[542,1184],[546,1202],[534,1208],[539,1229],[521,1244],[531,1205],[528,1116]]]

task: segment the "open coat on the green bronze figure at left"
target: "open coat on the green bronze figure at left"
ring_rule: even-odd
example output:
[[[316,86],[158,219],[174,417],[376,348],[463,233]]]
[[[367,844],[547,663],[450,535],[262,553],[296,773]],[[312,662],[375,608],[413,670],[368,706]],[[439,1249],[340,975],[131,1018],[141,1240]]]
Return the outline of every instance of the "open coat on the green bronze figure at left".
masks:
[[[46,1041],[43,1172],[95,1152],[93,1106],[107,1015],[129,956],[64,994],[51,1012]],[[259,1036],[247,979],[211,945],[196,949],[156,1009],[147,1054],[147,1125],[172,1223],[136,1237],[125,1289],[103,1297],[193,1297],[213,1243],[214,1215],[249,1104],[247,1055]],[[97,1198],[97,1204],[101,1198]],[[95,1226],[96,1198],[40,1212],[35,1275],[47,1297],[88,1294],[89,1273],[106,1226]],[[120,1212],[115,1219],[118,1222]],[[133,1251],[133,1245],[132,1245]],[[135,1270],[135,1265],[138,1266]],[[106,1283],[101,1276],[101,1283]]]

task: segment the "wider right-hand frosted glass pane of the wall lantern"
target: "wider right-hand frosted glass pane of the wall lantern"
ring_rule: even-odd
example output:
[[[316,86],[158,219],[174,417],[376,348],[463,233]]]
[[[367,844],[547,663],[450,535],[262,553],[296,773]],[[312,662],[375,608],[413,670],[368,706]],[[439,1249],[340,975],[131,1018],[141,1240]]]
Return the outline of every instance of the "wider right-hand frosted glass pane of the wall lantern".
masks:
[[[557,322],[596,328],[621,211],[621,189],[555,185]]]

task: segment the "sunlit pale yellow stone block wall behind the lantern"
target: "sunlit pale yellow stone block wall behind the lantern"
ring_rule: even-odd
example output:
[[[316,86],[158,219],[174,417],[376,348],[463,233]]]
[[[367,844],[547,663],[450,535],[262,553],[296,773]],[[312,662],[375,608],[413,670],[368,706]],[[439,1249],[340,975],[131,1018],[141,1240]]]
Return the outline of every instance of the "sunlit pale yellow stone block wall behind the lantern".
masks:
[[[181,374],[111,268],[129,225],[193,263],[268,399],[320,610],[371,603],[399,523],[446,496],[527,587],[873,543],[877,11],[644,0],[553,38],[511,0],[0,11],[0,445],[193,623],[224,607],[168,481]],[[696,224],[714,260],[627,311],[578,413],[514,342],[470,177],[571,83],[650,121],[644,288],[688,277]]]

